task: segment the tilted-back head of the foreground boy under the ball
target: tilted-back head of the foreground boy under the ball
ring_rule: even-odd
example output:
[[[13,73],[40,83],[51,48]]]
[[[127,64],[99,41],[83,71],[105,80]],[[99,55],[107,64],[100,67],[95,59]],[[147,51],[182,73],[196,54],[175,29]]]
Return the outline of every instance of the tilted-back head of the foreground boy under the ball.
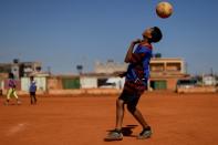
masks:
[[[143,38],[147,39],[149,43],[153,43],[153,42],[156,43],[156,42],[160,41],[162,37],[163,37],[162,31],[157,27],[146,29],[143,32]]]

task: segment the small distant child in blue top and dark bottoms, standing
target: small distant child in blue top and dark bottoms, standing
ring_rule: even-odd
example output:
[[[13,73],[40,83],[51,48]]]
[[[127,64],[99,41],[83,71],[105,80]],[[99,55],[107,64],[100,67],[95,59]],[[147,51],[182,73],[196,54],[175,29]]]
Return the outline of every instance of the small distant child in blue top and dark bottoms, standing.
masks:
[[[33,76],[30,76],[30,103],[31,104],[37,104],[37,97],[35,97],[35,92],[37,92],[37,84],[34,81]]]

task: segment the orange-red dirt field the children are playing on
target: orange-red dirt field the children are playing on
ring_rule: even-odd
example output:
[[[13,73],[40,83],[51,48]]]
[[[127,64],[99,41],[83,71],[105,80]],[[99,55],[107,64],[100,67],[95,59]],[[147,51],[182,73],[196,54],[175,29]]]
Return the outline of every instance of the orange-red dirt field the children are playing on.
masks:
[[[217,145],[218,94],[147,93],[138,108],[153,127],[137,141],[141,126],[126,112],[124,139],[104,142],[115,123],[116,96],[39,96],[38,105],[3,105],[0,97],[1,145]]]

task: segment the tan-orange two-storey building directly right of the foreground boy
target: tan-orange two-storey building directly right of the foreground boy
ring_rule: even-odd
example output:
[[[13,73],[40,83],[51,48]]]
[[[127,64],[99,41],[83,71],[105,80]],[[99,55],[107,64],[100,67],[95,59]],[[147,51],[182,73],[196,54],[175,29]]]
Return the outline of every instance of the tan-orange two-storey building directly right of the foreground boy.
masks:
[[[150,60],[150,90],[176,90],[177,81],[188,76],[183,59],[153,58]]]

